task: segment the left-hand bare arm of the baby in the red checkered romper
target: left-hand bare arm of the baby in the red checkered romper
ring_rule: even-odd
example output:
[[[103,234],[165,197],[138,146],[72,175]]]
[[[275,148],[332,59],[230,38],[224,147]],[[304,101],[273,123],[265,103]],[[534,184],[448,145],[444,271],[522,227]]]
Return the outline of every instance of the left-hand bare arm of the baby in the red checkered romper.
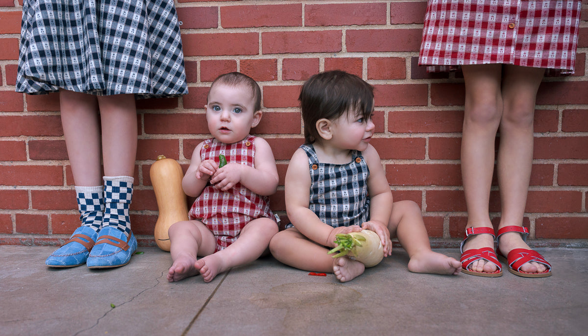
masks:
[[[218,164],[214,160],[202,161],[200,157],[202,145],[203,142],[199,143],[192,152],[190,166],[182,179],[182,189],[186,195],[191,197],[200,196],[209,177],[218,169]]]

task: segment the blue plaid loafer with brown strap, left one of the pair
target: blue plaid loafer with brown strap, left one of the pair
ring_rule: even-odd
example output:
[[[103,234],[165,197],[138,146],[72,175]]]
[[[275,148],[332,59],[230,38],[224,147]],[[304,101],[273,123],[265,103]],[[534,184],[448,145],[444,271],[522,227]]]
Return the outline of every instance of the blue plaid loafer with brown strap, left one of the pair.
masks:
[[[98,233],[89,226],[78,227],[74,234],[45,260],[49,267],[76,267],[86,263]]]

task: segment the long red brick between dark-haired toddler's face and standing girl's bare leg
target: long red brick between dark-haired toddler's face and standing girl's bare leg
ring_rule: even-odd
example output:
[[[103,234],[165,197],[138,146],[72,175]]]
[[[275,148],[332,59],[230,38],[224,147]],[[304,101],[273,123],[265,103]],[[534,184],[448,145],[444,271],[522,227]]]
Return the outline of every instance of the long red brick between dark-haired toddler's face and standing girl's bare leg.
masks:
[[[388,114],[392,133],[461,133],[463,111],[393,111]]]

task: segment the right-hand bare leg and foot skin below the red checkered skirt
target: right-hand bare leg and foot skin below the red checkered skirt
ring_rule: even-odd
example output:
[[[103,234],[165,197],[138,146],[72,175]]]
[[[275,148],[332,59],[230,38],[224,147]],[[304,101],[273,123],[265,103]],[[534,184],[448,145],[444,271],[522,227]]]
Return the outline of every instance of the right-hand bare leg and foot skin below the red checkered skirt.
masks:
[[[498,152],[498,181],[502,213],[499,228],[522,226],[527,190],[533,162],[533,115],[535,98],[544,69],[505,66],[503,100]],[[505,233],[499,239],[500,251],[529,248],[519,233]],[[545,266],[527,263],[522,271],[543,272]]]

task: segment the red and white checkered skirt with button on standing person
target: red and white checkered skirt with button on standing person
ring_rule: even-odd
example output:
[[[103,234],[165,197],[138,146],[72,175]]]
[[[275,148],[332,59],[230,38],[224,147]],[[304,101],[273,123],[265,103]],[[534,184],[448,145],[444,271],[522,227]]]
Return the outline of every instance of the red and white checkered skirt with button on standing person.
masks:
[[[429,0],[419,65],[504,63],[574,73],[580,0]]]

